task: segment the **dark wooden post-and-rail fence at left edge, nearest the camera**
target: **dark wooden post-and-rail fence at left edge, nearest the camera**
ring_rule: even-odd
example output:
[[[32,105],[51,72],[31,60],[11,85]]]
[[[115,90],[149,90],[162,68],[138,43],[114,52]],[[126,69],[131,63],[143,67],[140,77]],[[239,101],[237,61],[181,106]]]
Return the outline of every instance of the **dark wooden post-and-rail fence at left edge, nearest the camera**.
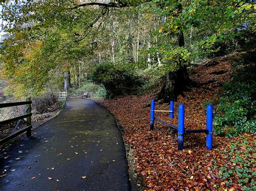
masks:
[[[16,121],[26,118],[26,127],[20,131],[12,133],[12,135],[10,135],[8,137],[1,139],[0,144],[8,142],[9,140],[17,137],[18,135],[21,135],[23,132],[26,132],[27,137],[31,137],[31,128],[32,128],[32,125],[31,125],[31,116],[32,116],[31,103],[32,103],[32,101],[30,98],[28,98],[24,102],[0,103],[0,108],[14,107],[14,106],[18,106],[18,105],[26,105],[26,107],[27,107],[26,114],[0,122],[0,128],[1,128],[3,125],[9,124],[11,122],[16,122]],[[16,128],[16,126],[15,126],[15,128]]]

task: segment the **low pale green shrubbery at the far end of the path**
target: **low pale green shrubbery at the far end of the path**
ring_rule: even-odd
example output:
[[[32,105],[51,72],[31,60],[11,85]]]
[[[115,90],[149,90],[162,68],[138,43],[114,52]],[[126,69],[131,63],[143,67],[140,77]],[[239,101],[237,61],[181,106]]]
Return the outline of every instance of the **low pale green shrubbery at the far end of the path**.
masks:
[[[77,88],[77,89],[71,88],[69,91],[69,96],[105,98],[106,90],[102,85],[98,85],[98,84],[86,81],[80,88]]]

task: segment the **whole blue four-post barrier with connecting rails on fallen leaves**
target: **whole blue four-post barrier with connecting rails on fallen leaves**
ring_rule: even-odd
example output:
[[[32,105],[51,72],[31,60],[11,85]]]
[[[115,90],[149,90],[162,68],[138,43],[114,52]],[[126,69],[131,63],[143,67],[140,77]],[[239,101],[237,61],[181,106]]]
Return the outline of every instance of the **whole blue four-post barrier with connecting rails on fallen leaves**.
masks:
[[[173,119],[174,114],[174,102],[170,102],[170,110],[155,110],[155,102],[151,101],[150,109],[150,130],[154,129],[154,121],[159,121],[165,125],[168,125],[172,129],[178,130],[178,150],[183,150],[184,147],[184,136],[189,133],[206,133],[206,148],[212,150],[212,118],[213,118],[213,108],[212,105],[207,105],[206,108],[206,129],[197,129],[197,130],[185,130],[185,107],[184,104],[179,105],[179,116],[178,116],[178,126],[175,126],[171,123],[165,122],[162,119],[154,117],[155,112],[170,112],[170,118]]]

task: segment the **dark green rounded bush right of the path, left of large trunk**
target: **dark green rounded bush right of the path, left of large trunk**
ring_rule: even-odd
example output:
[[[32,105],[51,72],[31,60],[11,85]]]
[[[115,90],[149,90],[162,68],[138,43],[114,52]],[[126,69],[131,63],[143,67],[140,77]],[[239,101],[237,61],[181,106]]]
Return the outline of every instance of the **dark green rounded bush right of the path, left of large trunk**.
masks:
[[[115,66],[112,63],[104,63],[93,70],[91,80],[97,84],[103,84],[108,97],[136,94],[143,85],[142,77],[139,77],[133,69],[123,65]]]

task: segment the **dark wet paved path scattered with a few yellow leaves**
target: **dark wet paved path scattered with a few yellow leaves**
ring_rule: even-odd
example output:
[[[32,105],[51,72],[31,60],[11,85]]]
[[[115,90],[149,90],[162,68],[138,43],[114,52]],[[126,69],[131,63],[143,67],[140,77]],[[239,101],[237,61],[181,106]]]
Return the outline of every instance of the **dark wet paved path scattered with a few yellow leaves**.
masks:
[[[1,153],[0,190],[130,189],[120,132],[95,102],[69,100],[32,135]]]

